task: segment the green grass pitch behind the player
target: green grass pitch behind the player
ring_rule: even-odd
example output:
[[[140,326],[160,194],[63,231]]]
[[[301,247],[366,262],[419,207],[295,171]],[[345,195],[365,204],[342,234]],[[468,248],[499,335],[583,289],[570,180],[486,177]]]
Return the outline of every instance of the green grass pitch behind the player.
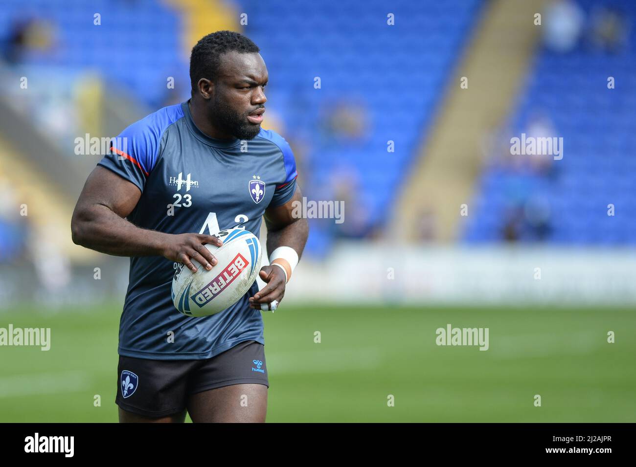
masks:
[[[121,305],[38,310],[0,311],[0,327],[50,327],[52,342],[0,347],[0,422],[117,421]],[[264,319],[268,422],[636,421],[633,309],[310,304]],[[488,327],[490,348],[437,346],[447,323]]]

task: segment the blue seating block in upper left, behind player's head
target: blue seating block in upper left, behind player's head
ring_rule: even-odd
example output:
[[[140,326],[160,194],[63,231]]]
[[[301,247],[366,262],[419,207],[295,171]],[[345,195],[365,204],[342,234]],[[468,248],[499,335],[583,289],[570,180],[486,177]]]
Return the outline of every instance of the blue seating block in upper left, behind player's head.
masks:
[[[101,25],[93,24],[95,13]],[[52,25],[55,44],[52,52],[25,57],[26,65],[64,67],[67,72],[94,69],[152,107],[167,98],[168,76],[189,88],[179,16],[162,1],[3,0],[0,43],[27,18]]]

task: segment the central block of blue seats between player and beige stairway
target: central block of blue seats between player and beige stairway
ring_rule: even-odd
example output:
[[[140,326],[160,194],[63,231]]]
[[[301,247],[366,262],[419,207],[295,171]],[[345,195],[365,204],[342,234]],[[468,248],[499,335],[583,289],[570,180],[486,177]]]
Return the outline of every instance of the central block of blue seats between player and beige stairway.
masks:
[[[363,234],[384,226],[481,1],[239,4],[247,13],[245,34],[261,48],[270,73],[268,106],[284,117],[292,144],[307,143],[307,152],[298,154],[305,194],[322,196],[338,167],[355,168],[361,183],[357,201],[345,205],[345,222],[364,209]],[[394,26],[387,25],[388,13],[394,13]],[[347,99],[363,102],[368,130],[336,146],[317,129],[329,105]],[[395,152],[387,152],[388,140],[395,142]],[[326,222],[315,222],[308,252],[328,251],[338,234]]]

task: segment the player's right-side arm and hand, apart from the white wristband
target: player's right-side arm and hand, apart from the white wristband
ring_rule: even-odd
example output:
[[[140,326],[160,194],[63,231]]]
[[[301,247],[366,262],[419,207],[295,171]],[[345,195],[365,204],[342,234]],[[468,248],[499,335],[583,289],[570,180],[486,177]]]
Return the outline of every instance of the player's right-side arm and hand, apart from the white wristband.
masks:
[[[307,243],[309,227],[307,219],[295,218],[292,215],[294,201],[301,202],[300,187],[291,200],[282,206],[265,210],[265,225],[267,227],[267,251],[271,254],[278,247],[291,247],[298,253],[300,259]],[[260,276],[267,283],[262,290],[249,299],[251,307],[261,309],[261,304],[281,301],[285,295],[285,273],[278,266],[261,267]]]

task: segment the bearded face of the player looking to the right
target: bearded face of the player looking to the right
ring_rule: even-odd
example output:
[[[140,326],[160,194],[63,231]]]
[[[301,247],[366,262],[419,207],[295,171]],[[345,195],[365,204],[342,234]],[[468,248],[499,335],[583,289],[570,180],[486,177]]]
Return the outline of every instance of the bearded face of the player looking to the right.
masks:
[[[258,135],[265,112],[267,67],[259,53],[221,56],[218,79],[211,87],[209,119],[228,137],[250,140]]]

